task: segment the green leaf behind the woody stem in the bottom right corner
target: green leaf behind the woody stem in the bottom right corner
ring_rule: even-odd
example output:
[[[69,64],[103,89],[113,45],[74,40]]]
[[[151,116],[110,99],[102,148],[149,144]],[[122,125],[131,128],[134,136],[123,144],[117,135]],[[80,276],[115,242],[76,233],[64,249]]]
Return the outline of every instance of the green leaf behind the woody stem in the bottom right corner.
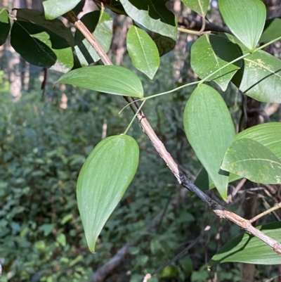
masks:
[[[270,238],[281,241],[281,222],[272,222],[256,227]],[[223,262],[243,262],[249,264],[281,264],[281,256],[266,243],[245,232],[224,245],[209,261],[208,267]]]

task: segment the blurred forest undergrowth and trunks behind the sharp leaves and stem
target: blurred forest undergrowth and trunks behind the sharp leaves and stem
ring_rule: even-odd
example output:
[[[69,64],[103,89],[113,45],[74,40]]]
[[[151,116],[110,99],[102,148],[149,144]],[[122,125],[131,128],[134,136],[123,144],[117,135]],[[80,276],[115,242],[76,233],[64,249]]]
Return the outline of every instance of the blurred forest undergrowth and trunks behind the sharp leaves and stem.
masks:
[[[11,6],[11,1],[6,4]],[[215,4],[209,16],[219,23]],[[121,50],[124,34],[119,31],[124,25],[124,18],[115,18],[111,56],[133,69],[128,55]],[[136,71],[146,94],[196,79],[189,58],[195,39],[181,34],[176,49],[162,57],[152,82]],[[124,132],[133,115],[129,108],[119,114],[126,105],[119,96],[64,85],[53,89],[60,76],[54,71],[48,71],[42,95],[41,69],[19,60],[8,43],[0,52],[1,282],[91,281],[96,269],[129,242],[137,243],[107,281],[142,281],[143,274],[161,267],[198,236],[199,241],[184,257],[150,281],[241,281],[241,264],[206,268],[216,250],[240,230],[215,218],[200,200],[176,183],[137,122],[129,134],[141,149],[138,172],[100,234],[96,254],[91,254],[76,203],[79,169],[93,146],[105,136]],[[185,138],[182,122],[191,92],[190,87],[152,99],[144,111],[171,155],[194,180],[201,166]],[[242,98],[232,87],[222,95],[238,127]],[[272,120],[280,121],[280,117],[280,110],[276,110]],[[208,193],[219,200],[215,191]],[[264,205],[265,198],[270,202],[270,196],[261,195],[260,204]],[[242,201],[243,193],[228,208],[242,214]],[[258,208],[262,210],[263,205]],[[275,219],[274,215],[268,217]],[[202,233],[206,226],[210,226],[209,231]],[[277,275],[277,267],[256,268],[256,281],[268,281]]]

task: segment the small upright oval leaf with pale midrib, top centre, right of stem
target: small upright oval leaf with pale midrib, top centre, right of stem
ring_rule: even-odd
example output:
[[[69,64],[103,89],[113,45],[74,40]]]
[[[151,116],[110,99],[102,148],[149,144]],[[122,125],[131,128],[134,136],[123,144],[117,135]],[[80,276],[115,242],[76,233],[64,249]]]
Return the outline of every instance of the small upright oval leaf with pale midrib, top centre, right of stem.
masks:
[[[132,25],[127,34],[126,44],[133,65],[152,79],[160,64],[155,42],[144,30]]]

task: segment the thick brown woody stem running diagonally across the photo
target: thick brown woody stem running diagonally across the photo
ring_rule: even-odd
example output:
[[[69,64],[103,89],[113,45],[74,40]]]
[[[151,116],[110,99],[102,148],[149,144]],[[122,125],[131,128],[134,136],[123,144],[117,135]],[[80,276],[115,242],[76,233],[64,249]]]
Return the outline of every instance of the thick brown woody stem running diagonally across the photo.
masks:
[[[87,30],[85,25],[81,23],[80,20],[77,19],[74,13],[69,12],[67,13],[67,15],[69,15],[71,23],[73,23],[77,27],[77,29],[79,29],[80,32],[84,34],[84,36],[89,41],[91,46],[93,46],[93,48],[100,56],[103,63],[105,65],[112,65],[110,58],[108,58],[106,53],[99,46],[96,39],[93,38],[91,32]],[[247,54],[247,56],[248,55],[249,54]],[[124,96],[124,98],[128,103],[135,101],[132,97]],[[150,123],[146,119],[138,103],[136,101],[135,103],[131,103],[130,108],[131,110],[133,110],[133,113],[135,113],[136,115],[136,119],[141,124],[143,132],[148,136],[148,139],[150,139],[152,145],[155,147],[155,149],[159,153],[160,157],[164,160],[164,162],[166,162],[166,165],[169,167],[169,169],[171,169],[171,172],[173,172],[179,184],[187,188],[192,193],[195,193],[195,195],[198,198],[200,198],[206,205],[208,205],[211,208],[211,210],[213,210],[216,213],[218,217],[223,219],[228,219],[231,222],[237,224],[237,226],[240,226],[242,229],[248,231],[256,238],[259,238],[261,241],[269,245],[270,248],[272,248],[275,252],[281,255],[281,243],[275,241],[273,238],[270,238],[262,231],[256,229],[254,226],[251,225],[251,222],[249,222],[249,220],[240,217],[238,214],[235,214],[234,212],[230,212],[230,210],[227,210],[225,207],[221,206],[219,203],[217,203],[215,200],[211,199],[209,196],[207,196],[207,194],[201,191],[200,188],[195,186],[192,183],[192,181],[190,181],[190,179],[188,179],[188,177],[186,177],[185,174],[181,171],[179,166],[176,164],[175,160],[171,157],[170,153],[166,150],[162,141],[159,140],[157,134],[155,134],[155,131],[150,126]]]

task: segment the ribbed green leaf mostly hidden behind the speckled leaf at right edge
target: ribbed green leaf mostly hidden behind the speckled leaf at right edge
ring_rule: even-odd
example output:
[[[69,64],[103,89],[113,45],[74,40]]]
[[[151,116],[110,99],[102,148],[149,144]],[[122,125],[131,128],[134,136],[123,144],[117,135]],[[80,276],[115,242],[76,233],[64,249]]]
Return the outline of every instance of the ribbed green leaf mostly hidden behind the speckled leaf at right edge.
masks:
[[[253,139],[266,146],[277,158],[281,160],[281,123],[268,122],[250,127],[235,136],[238,139]],[[241,177],[237,174],[229,174],[228,182],[235,181]],[[195,179],[194,184],[203,191],[214,188],[214,182],[208,176],[206,169],[202,169]]]

